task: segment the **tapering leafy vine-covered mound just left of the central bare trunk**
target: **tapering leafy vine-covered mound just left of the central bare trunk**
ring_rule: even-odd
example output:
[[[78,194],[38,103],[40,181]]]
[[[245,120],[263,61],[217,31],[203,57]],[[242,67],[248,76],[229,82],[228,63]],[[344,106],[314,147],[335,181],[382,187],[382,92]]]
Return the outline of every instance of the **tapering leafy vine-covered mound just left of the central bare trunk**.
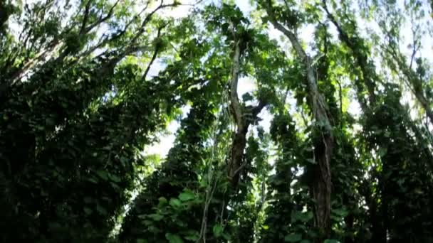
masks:
[[[192,102],[167,161],[147,178],[146,188],[125,217],[120,233],[122,242],[135,242],[137,238],[152,242],[165,237],[170,242],[198,238],[199,232],[192,229],[199,229],[200,221],[195,217],[201,216],[203,199],[194,193],[199,189],[194,169],[206,155],[202,141],[214,115],[208,102],[204,102],[204,95],[194,97]]]

